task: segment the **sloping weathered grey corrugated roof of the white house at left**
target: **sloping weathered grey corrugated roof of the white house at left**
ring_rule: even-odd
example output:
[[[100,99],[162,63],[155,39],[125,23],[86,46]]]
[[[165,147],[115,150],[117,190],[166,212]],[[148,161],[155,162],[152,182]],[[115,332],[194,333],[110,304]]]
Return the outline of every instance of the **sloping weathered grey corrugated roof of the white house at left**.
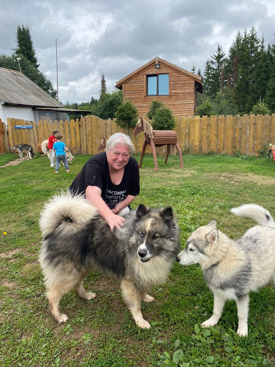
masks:
[[[17,70],[0,68],[0,102],[8,105],[63,107]]]

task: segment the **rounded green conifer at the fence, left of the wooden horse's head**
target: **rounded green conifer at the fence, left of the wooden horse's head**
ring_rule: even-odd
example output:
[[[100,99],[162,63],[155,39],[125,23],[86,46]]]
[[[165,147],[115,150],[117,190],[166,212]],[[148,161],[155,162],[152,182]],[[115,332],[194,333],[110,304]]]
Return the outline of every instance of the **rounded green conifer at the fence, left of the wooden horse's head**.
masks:
[[[128,134],[128,129],[136,126],[137,123],[137,108],[129,100],[121,103],[115,112],[115,117],[117,118],[117,125],[123,129],[126,129]]]

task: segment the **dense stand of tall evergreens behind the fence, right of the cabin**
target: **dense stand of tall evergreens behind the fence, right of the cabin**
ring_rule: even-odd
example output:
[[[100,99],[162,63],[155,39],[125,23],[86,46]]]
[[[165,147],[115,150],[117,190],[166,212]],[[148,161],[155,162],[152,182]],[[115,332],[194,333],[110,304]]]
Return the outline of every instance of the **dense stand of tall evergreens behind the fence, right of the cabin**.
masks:
[[[205,63],[196,114],[275,113],[275,38],[266,45],[253,26],[238,32],[225,54],[218,45]]]

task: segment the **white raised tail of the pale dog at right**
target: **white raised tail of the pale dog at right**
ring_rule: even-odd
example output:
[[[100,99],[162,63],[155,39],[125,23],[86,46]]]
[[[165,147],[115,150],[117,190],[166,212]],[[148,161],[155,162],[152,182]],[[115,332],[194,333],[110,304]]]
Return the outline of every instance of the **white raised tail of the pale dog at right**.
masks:
[[[232,208],[231,213],[238,217],[254,219],[258,225],[266,227],[275,227],[275,222],[268,210],[257,204],[243,204],[238,208]]]

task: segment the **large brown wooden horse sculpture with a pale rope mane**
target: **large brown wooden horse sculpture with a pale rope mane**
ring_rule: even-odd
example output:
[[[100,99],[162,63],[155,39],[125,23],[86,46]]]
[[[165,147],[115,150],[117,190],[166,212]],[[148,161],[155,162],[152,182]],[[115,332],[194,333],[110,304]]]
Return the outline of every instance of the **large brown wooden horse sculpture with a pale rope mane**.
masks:
[[[156,154],[155,147],[167,145],[167,154],[166,154],[166,158],[164,161],[164,164],[166,164],[169,153],[170,153],[171,144],[175,145],[177,148],[177,151],[179,152],[180,167],[181,168],[184,167],[176,131],[174,130],[153,130],[151,125],[148,123],[148,121],[143,120],[143,118],[140,116],[140,119],[137,121],[135,130],[134,130],[134,135],[137,135],[141,131],[144,132],[145,141],[142,147],[139,167],[142,166],[142,160],[145,154],[146,146],[150,145],[152,148],[153,157],[154,157],[155,172],[158,171],[157,154]]]

